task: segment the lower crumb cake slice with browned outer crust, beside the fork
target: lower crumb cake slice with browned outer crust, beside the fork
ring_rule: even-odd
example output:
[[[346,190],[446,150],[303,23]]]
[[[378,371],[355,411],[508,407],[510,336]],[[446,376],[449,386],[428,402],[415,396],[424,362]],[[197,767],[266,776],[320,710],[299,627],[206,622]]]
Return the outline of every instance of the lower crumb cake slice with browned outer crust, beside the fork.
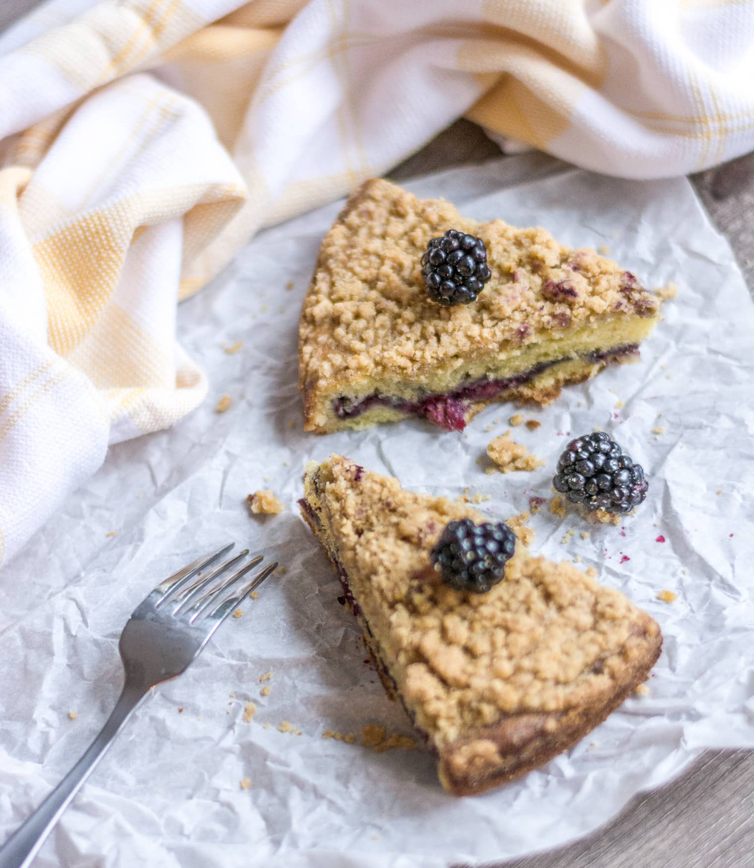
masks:
[[[506,525],[461,503],[404,491],[342,456],[309,464],[304,484],[302,514],[449,792],[481,792],[566,750],[659,656],[658,625],[619,591],[530,555]],[[437,551],[449,533],[497,552],[493,582],[446,583]]]

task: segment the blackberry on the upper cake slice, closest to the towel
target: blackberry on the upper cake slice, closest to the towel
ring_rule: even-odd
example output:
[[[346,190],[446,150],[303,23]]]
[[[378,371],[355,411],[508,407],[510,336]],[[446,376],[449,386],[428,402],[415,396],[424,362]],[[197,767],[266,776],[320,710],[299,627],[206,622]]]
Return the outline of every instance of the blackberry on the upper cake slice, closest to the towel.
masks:
[[[438,305],[470,305],[491,276],[484,241],[457,229],[431,239],[422,257],[424,286]]]

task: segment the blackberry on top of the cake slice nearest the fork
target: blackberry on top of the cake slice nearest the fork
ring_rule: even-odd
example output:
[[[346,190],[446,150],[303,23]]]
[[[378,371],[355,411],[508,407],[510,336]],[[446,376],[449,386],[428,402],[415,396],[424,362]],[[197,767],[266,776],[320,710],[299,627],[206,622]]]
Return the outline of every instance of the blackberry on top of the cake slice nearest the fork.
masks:
[[[502,582],[514,549],[515,534],[507,524],[463,518],[446,526],[429,557],[446,585],[485,594]]]

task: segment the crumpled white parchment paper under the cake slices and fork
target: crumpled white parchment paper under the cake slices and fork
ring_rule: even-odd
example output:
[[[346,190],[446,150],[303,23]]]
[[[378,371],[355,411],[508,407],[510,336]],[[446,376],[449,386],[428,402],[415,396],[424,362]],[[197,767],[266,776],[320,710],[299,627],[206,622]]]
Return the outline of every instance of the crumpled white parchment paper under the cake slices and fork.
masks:
[[[609,247],[647,286],[676,281],[678,297],[639,365],[523,411],[541,428],[516,428],[515,439],[545,468],[488,476],[477,458],[508,427],[511,405],[490,406],[468,437],[419,421],[303,433],[298,312],[339,203],[253,240],[178,313],[182,342],[212,382],[207,403],[171,431],[112,449],[0,575],[0,834],[102,726],[121,687],[118,636],[156,582],[229,540],[264,549],[286,573],[145,701],[39,868],[434,868],[509,858],[589,832],[705,747],[754,746],[754,310],[730,249],[685,180],[618,181],[522,155],[407,186],[481,220],[541,224],[574,246]],[[238,352],[224,352],[238,341]],[[232,404],[218,414],[224,395]],[[595,426],[646,468],[646,503],[618,527],[545,508],[531,520],[533,549],[596,567],[659,621],[665,646],[649,694],[541,770],[477,798],[446,795],[421,751],[323,739],[367,723],[388,733],[410,726],[366,664],[338,582],[298,517],[305,461],[343,452],[410,489],[456,497],[469,487],[489,496],[482,509],[509,516],[529,496],[550,496],[568,435]],[[282,514],[249,515],[245,497],[260,488],[285,502]],[[678,599],[659,601],[663,589]],[[247,700],[258,706],[252,722],[243,720]],[[283,721],[292,732],[279,731]]]

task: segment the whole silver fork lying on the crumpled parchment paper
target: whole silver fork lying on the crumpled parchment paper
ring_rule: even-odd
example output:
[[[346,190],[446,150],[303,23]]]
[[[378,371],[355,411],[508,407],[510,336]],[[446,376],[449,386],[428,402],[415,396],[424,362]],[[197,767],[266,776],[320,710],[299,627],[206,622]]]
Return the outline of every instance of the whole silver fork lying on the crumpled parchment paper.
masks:
[[[119,648],[126,682],[113,713],[82,758],[0,848],[0,868],[30,865],[62,812],[141,700],[155,685],[185,672],[226,617],[278,566],[277,562],[271,563],[250,582],[237,586],[241,576],[263,560],[262,555],[252,556],[240,569],[223,578],[229,569],[248,555],[249,550],[244,549],[239,555],[220,563],[208,575],[199,575],[231,549],[233,542],[197,558],[161,582],[134,609],[121,633]]]

